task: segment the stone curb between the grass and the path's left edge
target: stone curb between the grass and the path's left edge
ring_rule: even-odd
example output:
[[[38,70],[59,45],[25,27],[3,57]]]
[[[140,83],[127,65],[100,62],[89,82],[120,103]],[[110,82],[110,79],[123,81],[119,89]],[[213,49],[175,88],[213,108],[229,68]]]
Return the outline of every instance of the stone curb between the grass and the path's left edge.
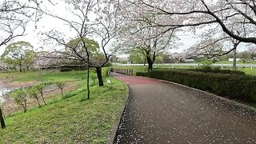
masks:
[[[119,125],[121,123],[121,120],[122,120],[122,115],[124,114],[124,112],[126,110],[126,106],[127,106],[128,102],[129,102],[130,87],[127,85],[127,83],[125,83],[125,82],[122,82],[122,83],[124,83],[126,85],[126,90],[128,90],[128,94],[126,94],[126,100],[125,100],[125,102],[123,103],[123,105],[121,107],[121,110],[120,110],[120,112],[118,114],[118,117],[114,121],[114,124],[113,124],[113,126],[111,128],[111,131],[110,131],[110,134],[109,134],[109,137],[108,137],[108,139],[106,141],[106,144],[113,144],[114,143],[114,141],[115,141],[115,139],[117,137],[118,127],[119,127]]]

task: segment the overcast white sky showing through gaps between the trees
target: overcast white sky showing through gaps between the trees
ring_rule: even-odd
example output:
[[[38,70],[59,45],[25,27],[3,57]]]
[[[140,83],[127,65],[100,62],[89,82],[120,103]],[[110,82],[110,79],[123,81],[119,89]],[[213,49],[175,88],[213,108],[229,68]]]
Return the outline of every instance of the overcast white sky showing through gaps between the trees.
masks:
[[[62,17],[68,17],[68,15],[66,15],[65,6],[62,3],[58,3],[57,6],[47,6],[47,8],[53,11],[54,14],[58,14]],[[42,19],[37,23],[38,29],[35,29],[34,25],[34,22],[30,22],[29,25],[26,27],[26,35],[19,38],[15,38],[12,42],[30,42],[36,50],[43,44],[42,40],[40,40],[40,38],[42,38],[42,36],[40,35],[41,32],[59,30],[69,35],[70,38],[75,37],[74,31],[70,31],[69,26],[66,26],[66,24],[61,20],[52,18],[50,16],[45,15],[42,17]],[[194,34],[191,33],[178,33],[178,37],[181,39],[179,43],[182,43],[182,45],[179,45],[177,49],[170,50],[170,53],[180,53],[188,49],[190,46],[193,46],[198,41],[198,39],[194,38]],[[4,52],[5,47],[6,46],[2,46],[0,48],[0,54]],[[51,47],[52,46],[44,46],[46,50],[49,50]],[[245,45],[240,45],[238,50],[245,50]]]

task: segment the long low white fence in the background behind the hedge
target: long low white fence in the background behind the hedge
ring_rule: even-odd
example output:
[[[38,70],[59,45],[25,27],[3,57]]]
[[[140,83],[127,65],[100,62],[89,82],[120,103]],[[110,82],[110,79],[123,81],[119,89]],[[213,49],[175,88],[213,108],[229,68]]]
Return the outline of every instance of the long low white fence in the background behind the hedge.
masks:
[[[120,63],[116,63],[116,66],[144,66],[144,64],[120,64]],[[146,64],[147,66],[147,64]],[[202,66],[202,64],[198,64],[198,63],[165,63],[165,64],[154,64],[154,67],[166,67],[166,68],[175,68],[175,67],[199,67]],[[221,69],[224,68],[232,68],[233,64],[211,64],[210,66],[212,67],[220,67]],[[254,68],[256,68],[256,65],[253,64],[237,64],[238,68],[250,68],[251,70],[253,70]]]

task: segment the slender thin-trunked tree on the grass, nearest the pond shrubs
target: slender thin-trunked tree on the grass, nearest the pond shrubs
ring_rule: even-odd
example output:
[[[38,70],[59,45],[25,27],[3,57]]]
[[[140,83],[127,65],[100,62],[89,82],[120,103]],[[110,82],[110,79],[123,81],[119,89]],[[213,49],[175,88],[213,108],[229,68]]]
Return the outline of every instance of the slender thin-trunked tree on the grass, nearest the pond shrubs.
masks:
[[[63,3],[62,3],[63,4]],[[68,46],[67,43],[74,38],[70,38],[62,33],[60,30],[51,30],[46,33],[46,36],[61,46],[68,46],[70,50],[73,51],[72,54],[74,59],[79,60],[80,62],[86,64],[87,66],[87,99],[90,99],[90,52],[89,48],[86,46],[86,37],[91,33],[91,26],[93,25],[93,21],[90,19],[90,14],[95,14],[97,10],[95,10],[95,6],[98,6],[98,2],[93,0],[86,1],[68,1],[65,0],[64,4],[66,5],[66,14],[68,17],[63,15],[53,14],[50,11],[42,10],[44,13],[50,15],[51,17],[58,18],[62,22],[65,22],[66,25],[70,27],[70,30],[75,33],[74,38],[78,38],[77,43],[75,43],[75,47]],[[55,5],[55,6],[58,6]],[[50,40],[46,39],[46,40]],[[79,53],[76,50],[76,46],[82,44],[82,50],[86,52],[86,57]]]

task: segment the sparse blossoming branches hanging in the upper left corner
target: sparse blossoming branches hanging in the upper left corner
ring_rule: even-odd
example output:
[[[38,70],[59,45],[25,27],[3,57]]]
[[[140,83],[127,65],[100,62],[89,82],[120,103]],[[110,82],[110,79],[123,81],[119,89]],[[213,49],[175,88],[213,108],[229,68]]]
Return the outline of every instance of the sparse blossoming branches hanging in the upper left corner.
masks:
[[[24,35],[28,22],[38,22],[40,18],[40,13],[37,10],[39,4],[40,2],[37,0],[0,2],[0,46]]]

